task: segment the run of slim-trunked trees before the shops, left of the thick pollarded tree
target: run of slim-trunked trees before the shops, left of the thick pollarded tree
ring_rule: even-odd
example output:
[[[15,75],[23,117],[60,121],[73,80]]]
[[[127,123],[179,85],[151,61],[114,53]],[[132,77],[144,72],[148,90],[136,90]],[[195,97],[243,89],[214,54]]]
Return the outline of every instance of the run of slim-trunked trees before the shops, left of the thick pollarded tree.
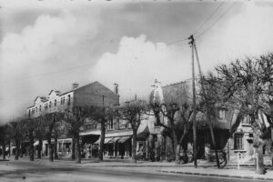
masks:
[[[37,158],[41,158],[43,140],[46,139],[49,148],[49,160],[53,162],[55,158],[58,158],[57,138],[66,135],[73,138],[72,159],[76,160],[76,163],[81,163],[80,132],[86,123],[95,120],[101,125],[98,157],[103,160],[107,121],[116,117],[126,120],[132,126],[134,141],[132,158],[136,162],[136,131],[143,119],[146,106],[145,101],[136,100],[127,103],[125,106],[73,106],[64,112],[49,113],[33,118],[17,118],[5,126],[0,126],[2,148],[5,148],[7,143],[13,143],[15,145],[15,160],[18,160],[20,154],[23,157],[25,145],[27,145],[30,160],[33,161],[35,159],[35,140],[38,141]],[[54,143],[52,142],[53,138]],[[3,157],[5,159],[5,155]]]

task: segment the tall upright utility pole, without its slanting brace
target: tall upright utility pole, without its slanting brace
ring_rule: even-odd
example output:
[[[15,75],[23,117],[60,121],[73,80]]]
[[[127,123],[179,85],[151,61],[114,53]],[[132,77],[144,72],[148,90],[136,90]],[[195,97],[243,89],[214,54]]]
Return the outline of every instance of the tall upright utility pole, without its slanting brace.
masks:
[[[196,108],[196,76],[195,76],[195,39],[193,35],[188,37],[190,40],[189,45],[191,47],[191,56],[192,56],[192,94],[193,94],[193,158],[194,158],[194,167],[197,167],[197,108]]]

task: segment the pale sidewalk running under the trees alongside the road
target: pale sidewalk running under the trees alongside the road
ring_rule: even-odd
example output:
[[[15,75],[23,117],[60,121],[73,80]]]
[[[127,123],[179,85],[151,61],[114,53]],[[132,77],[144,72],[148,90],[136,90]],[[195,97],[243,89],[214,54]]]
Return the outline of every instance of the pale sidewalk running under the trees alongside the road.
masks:
[[[20,158],[19,161],[28,163],[29,159],[25,157]],[[103,162],[98,162],[96,159],[83,159],[81,164],[76,164],[71,159],[57,159],[52,163],[49,162],[48,158],[43,158],[35,159],[35,162],[32,163],[61,167],[136,167],[136,169],[137,167],[153,167],[154,172],[160,173],[273,180],[272,167],[267,169],[265,175],[257,175],[255,174],[254,166],[250,163],[243,166],[240,170],[237,169],[236,163],[228,164],[227,167],[219,169],[215,163],[202,160],[198,160],[197,168],[193,167],[192,163],[176,165],[174,162],[137,161],[135,164],[131,163],[130,159],[106,159]]]

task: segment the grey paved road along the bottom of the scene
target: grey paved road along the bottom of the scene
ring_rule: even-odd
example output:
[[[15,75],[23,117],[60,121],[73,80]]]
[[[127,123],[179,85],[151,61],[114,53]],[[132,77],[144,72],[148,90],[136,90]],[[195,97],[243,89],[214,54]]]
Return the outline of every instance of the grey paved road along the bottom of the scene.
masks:
[[[7,166],[6,166],[7,165]],[[4,170],[1,170],[1,169]],[[51,181],[96,181],[96,182],[247,182],[249,179],[200,177],[164,174],[155,167],[69,167],[30,163],[0,163],[0,181],[51,182]],[[258,180],[252,180],[258,182]],[[261,180],[265,181],[265,180]]]

